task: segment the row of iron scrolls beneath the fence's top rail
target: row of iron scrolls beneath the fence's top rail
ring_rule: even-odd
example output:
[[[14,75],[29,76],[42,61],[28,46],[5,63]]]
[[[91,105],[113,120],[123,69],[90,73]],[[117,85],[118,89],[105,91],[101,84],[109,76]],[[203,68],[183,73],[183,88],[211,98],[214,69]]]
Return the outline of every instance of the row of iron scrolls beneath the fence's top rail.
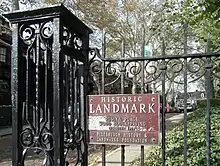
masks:
[[[204,79],[206,69],[206,59],[198,57],[176,58],[157,58],[155,60],[121,60],[121,59],[103,59],[97,51],[91,52],[90,70],[93,75],[100,77],[102,71],[106,76],[110,76],[111,81],[105,83],[106,86],[115,84],[120,81],[122,74],[125,80],[138,87],[146,86],[151,83],[162,81],[162,72],[165,71],[165,82],[171,82],[177,85],[184,84],[184,72],[187,72],[187,83],[195,83]],[[162,62],[164,61],[164,65]],[[105,63],[104,68],[102,64]],[[123,63],[123,65],[122,65]],[[212,72],[215,77],[219,78],[219,58],[212,58]],[[163,67],[162,67],[163,66]],[[133,79],[135,77],[135,79]],[[143,83],[141,82],[143,80]]]

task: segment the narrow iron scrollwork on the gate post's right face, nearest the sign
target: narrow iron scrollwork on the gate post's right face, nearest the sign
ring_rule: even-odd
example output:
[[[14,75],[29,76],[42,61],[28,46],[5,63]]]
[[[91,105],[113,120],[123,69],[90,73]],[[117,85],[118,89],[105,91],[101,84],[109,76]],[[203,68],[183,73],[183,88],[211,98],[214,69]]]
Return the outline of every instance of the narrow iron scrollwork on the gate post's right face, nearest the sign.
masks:
[[[64,27],[63,46],[73,50],[82,50],[83,41],[75,33]],[[85,131],[82,129],[81,92],[82,76],[80,75],[80,62],[71,56],[71,52],[66,52],[64,61],[64,80],[63,86],[65,91],[63,107],[64,111],[64,157],[66,164],[74,162],[75,165],[82,164],[85,144]],[[70,150],[75,152],[74,161],[68,159]],[[72,154],[72,153],[71,153]]]

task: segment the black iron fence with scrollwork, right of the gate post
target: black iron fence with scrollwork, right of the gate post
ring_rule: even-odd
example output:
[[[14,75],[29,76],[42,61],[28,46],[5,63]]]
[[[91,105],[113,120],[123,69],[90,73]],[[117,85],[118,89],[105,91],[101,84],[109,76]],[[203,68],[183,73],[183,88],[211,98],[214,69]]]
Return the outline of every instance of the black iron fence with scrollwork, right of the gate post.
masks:
[[[95,77],[101,77],[101,90],[100,94],[104,93],[124,93],[125,82],[130,82],[131,89],[135,87],[133,93],[152,93],[149,86],[154,84],[155,81],[160,83],[160,93],[162,98],[162,113],[161,113],[161,146],[162,146],[162,165],[166,165],[167,153],[166,153],[166,106],[168,103],[167,90],[168,82],[182,86],[183,94],[183,125],[184,125],[184,140],[183,140],[183,158],[184,165],[188,165],[188,142],[187,142],[187,117],[188,117],[188,98],[189,98],[189,86],[196,84],[195,88],[201,86],[199,80],[203,80],[205,87],[203,88],[205,99],[207,100],[206,108],[206,165],[211,164],[211,132],[210,132],[210,115],[211,115],[211,99],[213,98],[213,80],[219,81],[220,73],[219,60],[220,53],[187,53],[187,37],[185,34],[184,42],[184,54],[182,55],[165,55],[165,46],[162,40],[162,55],[156,57],[124,57],[124,45],[122,44],[122,55],[120,58],[106,57],[105,46],[102,48],[104,51],[102,55],[97,49],[92,50],[92,58],[90,61],[90,72]],[[105,45],[105,41],[104,44]],[[144,43],[143,45],[144,46]],[[209,41],[207,44],[207,50],[209,50]],[[105,78],[111,77],[111,79],[105,81]],[[135,78],[135,79],[134,79]],[[97,84],[96,84],[97,85]],[[100,86],[100,85],[99,85]],[[119,87],[119,91],[111,91],[108,87]],[[175,90],[172,89],[173,91]],[[110,92],[109,92],[110,91]],[[130,91],[132,93],[132,91]],[[192,92],[190,92],[192,93]],[[102,145],[102,165],[107,164],[106,161],[106,149],[105,145]],[[144,165],[144,146],[140,148],[140,164]],[[125,165],[125,146],[121,145],[121,165]]]

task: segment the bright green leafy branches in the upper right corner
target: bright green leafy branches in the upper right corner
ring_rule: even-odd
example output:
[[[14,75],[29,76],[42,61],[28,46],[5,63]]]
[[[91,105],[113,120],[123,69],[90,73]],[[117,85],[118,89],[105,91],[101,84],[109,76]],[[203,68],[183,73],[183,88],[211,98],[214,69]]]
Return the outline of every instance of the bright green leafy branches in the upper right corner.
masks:
[[[188,0],[182,3],[166,0],[164,3],[166,15],[160,21],[166,22],[168,31],[177,29],[183,23],[187,23],[195,41],[206,43],[208,37],[211,41],[211,50],[220,49],[220,22],[218,0]],[[209,36],[209,35],[210,36]]]

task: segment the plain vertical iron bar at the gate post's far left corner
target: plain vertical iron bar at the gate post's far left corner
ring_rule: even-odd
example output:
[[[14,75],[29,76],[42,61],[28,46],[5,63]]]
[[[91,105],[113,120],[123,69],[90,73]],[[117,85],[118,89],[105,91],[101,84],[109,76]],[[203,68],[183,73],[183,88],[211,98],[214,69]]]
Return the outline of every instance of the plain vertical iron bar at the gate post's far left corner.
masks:
[[[19,39],[18,39],[18,24],[12,24],[12,59],[11,59],[11,94],[12,94],[12,165],[17,166],[21,161],[22,147],[19,141],[19,135],[22,129],[21,121],[21,88],[18,88],[21,83],[21,60],[19,55]]]

